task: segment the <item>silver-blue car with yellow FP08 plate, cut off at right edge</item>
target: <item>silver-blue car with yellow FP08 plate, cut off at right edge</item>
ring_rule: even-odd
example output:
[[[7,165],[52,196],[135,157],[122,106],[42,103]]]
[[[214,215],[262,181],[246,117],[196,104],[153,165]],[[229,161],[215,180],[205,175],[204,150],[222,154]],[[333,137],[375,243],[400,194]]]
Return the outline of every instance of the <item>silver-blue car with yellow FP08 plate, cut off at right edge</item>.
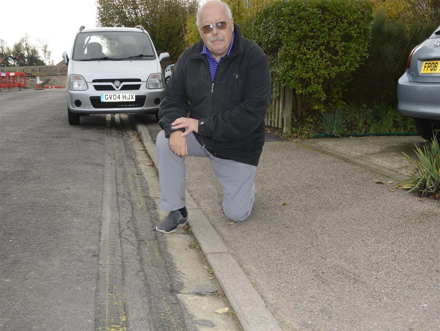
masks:
[[[440,26],[411,51],[397,98],[400,114],[414,117],[420,136],[431,139],[434,134],[440,141]]]

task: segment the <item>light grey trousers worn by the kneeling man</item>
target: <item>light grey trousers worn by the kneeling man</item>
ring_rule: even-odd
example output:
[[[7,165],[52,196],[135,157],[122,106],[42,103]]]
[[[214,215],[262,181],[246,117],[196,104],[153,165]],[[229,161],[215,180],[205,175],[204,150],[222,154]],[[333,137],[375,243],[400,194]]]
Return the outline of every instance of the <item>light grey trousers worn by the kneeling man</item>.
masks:
[[[223,211],[233,221],[244,221],[249,217],[255,201],[255,173],[257,167],[232,160],[215,158],[195,139],[191,132],[187,136],[188,156],[208,157],[214,173],[223,185]],[[159,183],[161,201],[159,208],[166,211],[185,206],[185,158],[169,149],[168,138],[159,132],[156,148],[158,152]]]

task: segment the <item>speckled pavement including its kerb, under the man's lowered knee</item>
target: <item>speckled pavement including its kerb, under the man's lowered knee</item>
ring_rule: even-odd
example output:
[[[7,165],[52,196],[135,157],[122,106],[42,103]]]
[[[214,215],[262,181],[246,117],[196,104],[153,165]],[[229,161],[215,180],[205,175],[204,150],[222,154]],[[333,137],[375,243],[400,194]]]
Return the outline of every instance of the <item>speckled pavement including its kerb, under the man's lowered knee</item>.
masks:
[[[137,122],[156,162],[160,129]],[[209,160],[186,162],[191,230],[243,329],[440,330],[440,201],[394,188],[422,138],[268,138],[245,222]]]

